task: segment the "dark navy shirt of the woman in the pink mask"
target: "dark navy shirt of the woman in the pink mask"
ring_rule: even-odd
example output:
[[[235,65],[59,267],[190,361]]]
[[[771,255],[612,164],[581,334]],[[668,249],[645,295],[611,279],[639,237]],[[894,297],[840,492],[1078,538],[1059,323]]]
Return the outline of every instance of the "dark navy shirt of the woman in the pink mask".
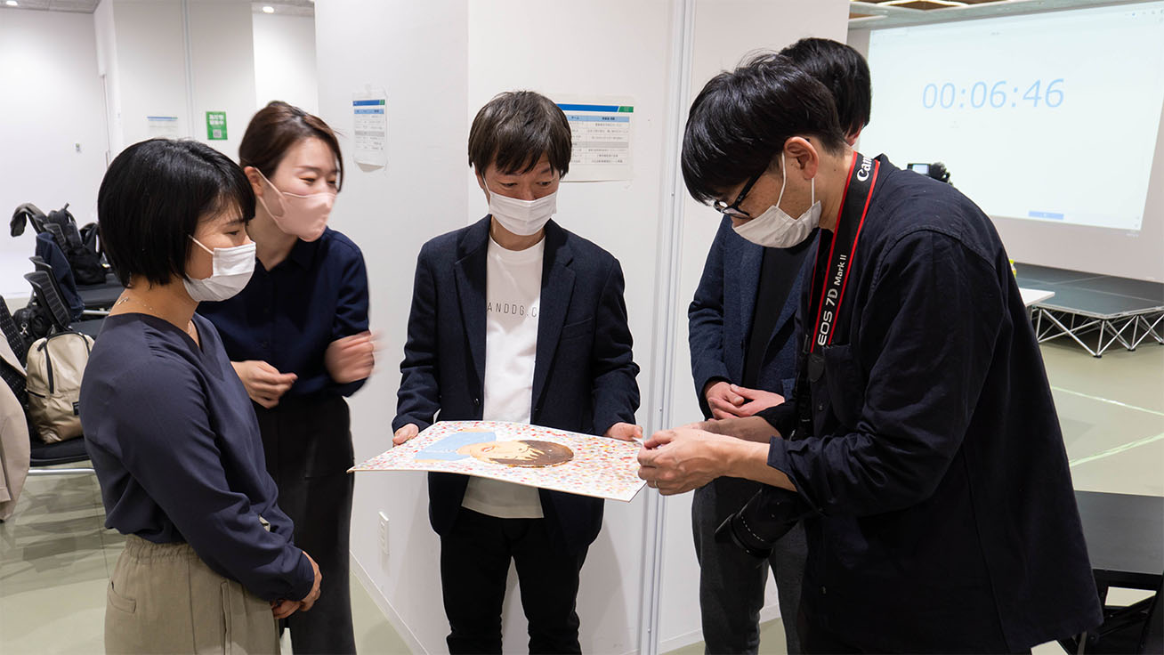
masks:
[[[368,329],[368,271],[363,254],[328,228],[312,242],[297,240],[286,259],[255,273],[237,296],[203,302],[230,361],[260,359],[298,379],[284,398],[350,396],[364,380],[336,384],[324,354],[336,339]]]

